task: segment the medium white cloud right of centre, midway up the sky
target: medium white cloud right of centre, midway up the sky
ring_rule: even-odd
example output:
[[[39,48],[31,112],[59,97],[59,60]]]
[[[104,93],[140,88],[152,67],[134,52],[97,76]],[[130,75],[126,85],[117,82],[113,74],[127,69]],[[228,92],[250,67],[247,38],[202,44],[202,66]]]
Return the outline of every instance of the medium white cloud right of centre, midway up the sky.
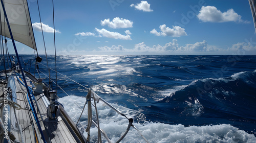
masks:
[[[156,29],[153,29],[150,33],[155,34],[157,36],[172,36],[172,37],[180,37],[180,36],[187,36],[184,28],[179,26],[173,26],[172,28],[166,27],[166,25],[159,26],[161,32],[157,32]]]

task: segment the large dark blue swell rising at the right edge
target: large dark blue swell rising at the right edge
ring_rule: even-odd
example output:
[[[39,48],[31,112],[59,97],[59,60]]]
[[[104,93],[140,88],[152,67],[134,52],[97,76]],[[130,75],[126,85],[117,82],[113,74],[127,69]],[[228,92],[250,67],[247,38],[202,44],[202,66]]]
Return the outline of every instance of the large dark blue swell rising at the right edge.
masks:
[[[177,106],[184,114],[203,115],[207,110],[256,120],[255,91],[256,72],[243,71],[228,78],[195,80],[160,102]]]

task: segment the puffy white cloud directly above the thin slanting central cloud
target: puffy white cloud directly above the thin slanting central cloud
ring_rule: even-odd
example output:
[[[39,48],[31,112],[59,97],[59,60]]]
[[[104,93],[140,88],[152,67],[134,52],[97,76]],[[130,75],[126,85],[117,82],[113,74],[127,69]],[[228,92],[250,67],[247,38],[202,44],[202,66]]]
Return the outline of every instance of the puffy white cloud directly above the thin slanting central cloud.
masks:
[[[132,28],[133,27],[133,21],[115,17],[112,21],[110,19],[104,19],[103,21],[100,21],[100,24],[102,26],[108,25],[110,28]]]

